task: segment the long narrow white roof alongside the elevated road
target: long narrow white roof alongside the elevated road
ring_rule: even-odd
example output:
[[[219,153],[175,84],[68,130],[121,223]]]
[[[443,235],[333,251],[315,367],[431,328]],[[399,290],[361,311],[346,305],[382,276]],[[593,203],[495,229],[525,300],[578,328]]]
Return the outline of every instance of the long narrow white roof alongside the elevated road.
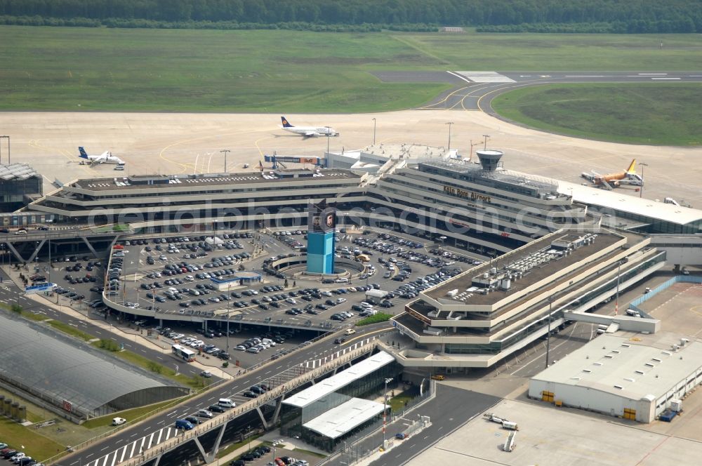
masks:
[[[377,371],[379,368],[390,364],[395,361],[395,357],[384,351],[378,354],[373,354],[373,356],[368,359],[364,359],[358,364],[354,364],[345,371],[341,371],[336,375],[332,375],[330,378],[326,378],[320,382],[315,383],[312,387],[303,390],[297,394],[294,394],[288,399],[284,399],[284,404],[289,404],[291,406],[297,406],[298,408],[304,408],[307,405],[318,401],[326,395],[329,395],[341,388],[349,385],[354,380],[368,375],[373,371]]]

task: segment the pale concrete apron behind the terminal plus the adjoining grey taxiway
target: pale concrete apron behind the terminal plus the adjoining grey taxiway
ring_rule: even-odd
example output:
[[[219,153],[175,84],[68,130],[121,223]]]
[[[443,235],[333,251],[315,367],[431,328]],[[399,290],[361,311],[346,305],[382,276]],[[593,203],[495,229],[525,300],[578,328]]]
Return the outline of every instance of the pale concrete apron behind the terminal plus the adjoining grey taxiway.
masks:
[[[632,159],[649,164],[644,197],[673,197],[702,207],[700,147],[626,145],[583,140],[524,128],[498,119],[490,101],[519,86],[564,82],[700,82],[702,72],[387,72],[388,81],[443,79],[456,88],[420,109],[373,114],[286,114],[298,126],[332,126],[337,138],[308,138],[279,128],[279,114],[174,114],[108,112],[1,112],[0,125],[11,136],[12,161],[32,165],[52,182],[75,178],[124,177],[257,171],[264,154],[321,157],[327,149],[364,149],[378,144],[451,147],[463,157],[477,148],[505,152],[505,168],[581,183],[581,172],[621,171]],[[448,110],[454,110],[447,112]],[[449,126],[448,123],[453,125]],[[78,146],[88,153],[110,150],[126,161],[125,171],[112,166],[79,165]],[[225,166],[223,149],[229,149]],[[6,147],[0,162],[6,163]],[[264,164],[265,168],[270,168]],[[631,187],[621,192],[637,195]]]

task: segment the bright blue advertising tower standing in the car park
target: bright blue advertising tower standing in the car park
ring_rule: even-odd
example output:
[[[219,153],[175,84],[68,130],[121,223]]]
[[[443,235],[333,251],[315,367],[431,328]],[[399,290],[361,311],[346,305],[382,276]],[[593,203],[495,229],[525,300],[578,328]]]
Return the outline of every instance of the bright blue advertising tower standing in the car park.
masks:
[[[327,206],[310,202],[307,216],[307,273],[334,273],[334,231],[336,211]]]

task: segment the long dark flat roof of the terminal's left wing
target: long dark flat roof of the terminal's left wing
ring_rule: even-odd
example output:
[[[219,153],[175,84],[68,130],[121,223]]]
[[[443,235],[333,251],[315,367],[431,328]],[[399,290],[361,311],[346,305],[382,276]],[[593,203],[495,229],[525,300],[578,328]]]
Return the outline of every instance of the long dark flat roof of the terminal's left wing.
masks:
[[[85,178],[73,182],[70,186],[93,191],[112,189],[159,189],[163,187],[218,187],[241,183],[270,182],[322,182],[323,180],[360,180],[362,174],[341,168],[278,169],[249,171],[243,173],[208,173],[203,175],[119,175],[114,178]]]

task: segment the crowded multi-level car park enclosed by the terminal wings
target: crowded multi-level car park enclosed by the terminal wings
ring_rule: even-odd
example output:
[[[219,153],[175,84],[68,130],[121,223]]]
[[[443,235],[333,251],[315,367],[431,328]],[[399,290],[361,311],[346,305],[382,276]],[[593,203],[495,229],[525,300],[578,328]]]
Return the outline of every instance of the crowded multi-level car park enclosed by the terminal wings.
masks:
[[[353,283],[285,279],[272,270],[268,274],[272,259],[304,252],[300,246],[305,244],[304,234],[300,230],[220,232],[218,239],[132,239],[117,244],[109,259],[53,258],[51,280],[58,284],[58,293],[51,299],[87,317],[109,316],[115,325],[139,326],[152,333],[152,338],[192,350],[204,364],[219,366],[220,356],[234,367],[247,368],[320,333],[352,328],[363,317],[402,312],[407,300],[473,261],[440,248],[428,251],[418,240],[390,233],[339,232],[336,255],[357,258],[366,266],[366,272]],[[272,252],[278,256],[271,256]],[[46,265],[39,262],[36,267],[42,272]],[[241,269],[262,274],[263,281],[226,292],[213,285],[213,278],[225,279]],[[110,300],[155,310],[154,317],[107,308],[101,299],[105,277]],[[201,319],[161,319],[168,314]],[[346,337],[340,336],[337,344]]]

